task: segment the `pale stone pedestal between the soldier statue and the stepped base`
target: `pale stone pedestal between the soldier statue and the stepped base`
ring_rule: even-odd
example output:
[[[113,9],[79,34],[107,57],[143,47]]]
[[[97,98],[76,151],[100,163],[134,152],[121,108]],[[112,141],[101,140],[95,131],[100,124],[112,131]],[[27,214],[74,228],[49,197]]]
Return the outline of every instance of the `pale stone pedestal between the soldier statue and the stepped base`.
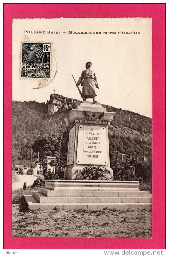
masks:
[[[75,180],[76,170],[85,166],[110,168],[108,125],[115,113],[107,112],[101,104],[83,101],[65,117],[69,131],[65,180]]]

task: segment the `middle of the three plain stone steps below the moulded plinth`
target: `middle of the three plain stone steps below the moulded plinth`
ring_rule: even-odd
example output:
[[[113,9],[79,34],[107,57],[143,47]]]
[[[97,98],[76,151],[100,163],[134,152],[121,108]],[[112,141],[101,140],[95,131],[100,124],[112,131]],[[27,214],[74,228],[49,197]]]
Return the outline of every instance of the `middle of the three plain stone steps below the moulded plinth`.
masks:
[[[47,197],[33,192],[40,203],[151,203],[151,197]]]

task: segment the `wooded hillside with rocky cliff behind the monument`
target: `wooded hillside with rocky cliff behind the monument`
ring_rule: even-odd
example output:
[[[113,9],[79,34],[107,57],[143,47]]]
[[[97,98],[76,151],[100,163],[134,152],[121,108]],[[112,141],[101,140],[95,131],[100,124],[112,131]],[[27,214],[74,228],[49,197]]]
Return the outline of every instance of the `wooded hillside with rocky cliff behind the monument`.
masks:
[[[57,112],[51,114],[51,104]],[[64,135],[67,148],[68,130],[64,118],[80,101],[52,94],[45,104],[13,101],[13,161],[30,160],[32,143],[39,134],[58,132]],[[116,112],[109,127],[110,157],[114,151],[152,157],[152,119],[111,106],[102,105],[108,112]],[[37,156],[33,153],[33,159]]]

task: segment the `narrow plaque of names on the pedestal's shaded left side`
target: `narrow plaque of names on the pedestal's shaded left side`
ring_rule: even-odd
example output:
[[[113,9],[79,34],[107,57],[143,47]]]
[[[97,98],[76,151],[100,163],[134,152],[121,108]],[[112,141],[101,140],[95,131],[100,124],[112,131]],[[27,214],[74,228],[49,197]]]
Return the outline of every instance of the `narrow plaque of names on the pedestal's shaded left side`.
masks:
[[[73,164],[75,148],[75,126],[69,131],[69,144],[67,153],[67,165]]]

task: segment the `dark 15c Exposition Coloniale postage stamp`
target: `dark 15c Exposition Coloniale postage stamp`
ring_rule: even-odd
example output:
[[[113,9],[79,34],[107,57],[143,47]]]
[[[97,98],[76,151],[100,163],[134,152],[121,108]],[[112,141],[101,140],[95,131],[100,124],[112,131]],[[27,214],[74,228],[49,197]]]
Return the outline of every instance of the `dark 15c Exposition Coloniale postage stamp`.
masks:
[[[50,43],[22,42],[22,78],[50,78]]]

